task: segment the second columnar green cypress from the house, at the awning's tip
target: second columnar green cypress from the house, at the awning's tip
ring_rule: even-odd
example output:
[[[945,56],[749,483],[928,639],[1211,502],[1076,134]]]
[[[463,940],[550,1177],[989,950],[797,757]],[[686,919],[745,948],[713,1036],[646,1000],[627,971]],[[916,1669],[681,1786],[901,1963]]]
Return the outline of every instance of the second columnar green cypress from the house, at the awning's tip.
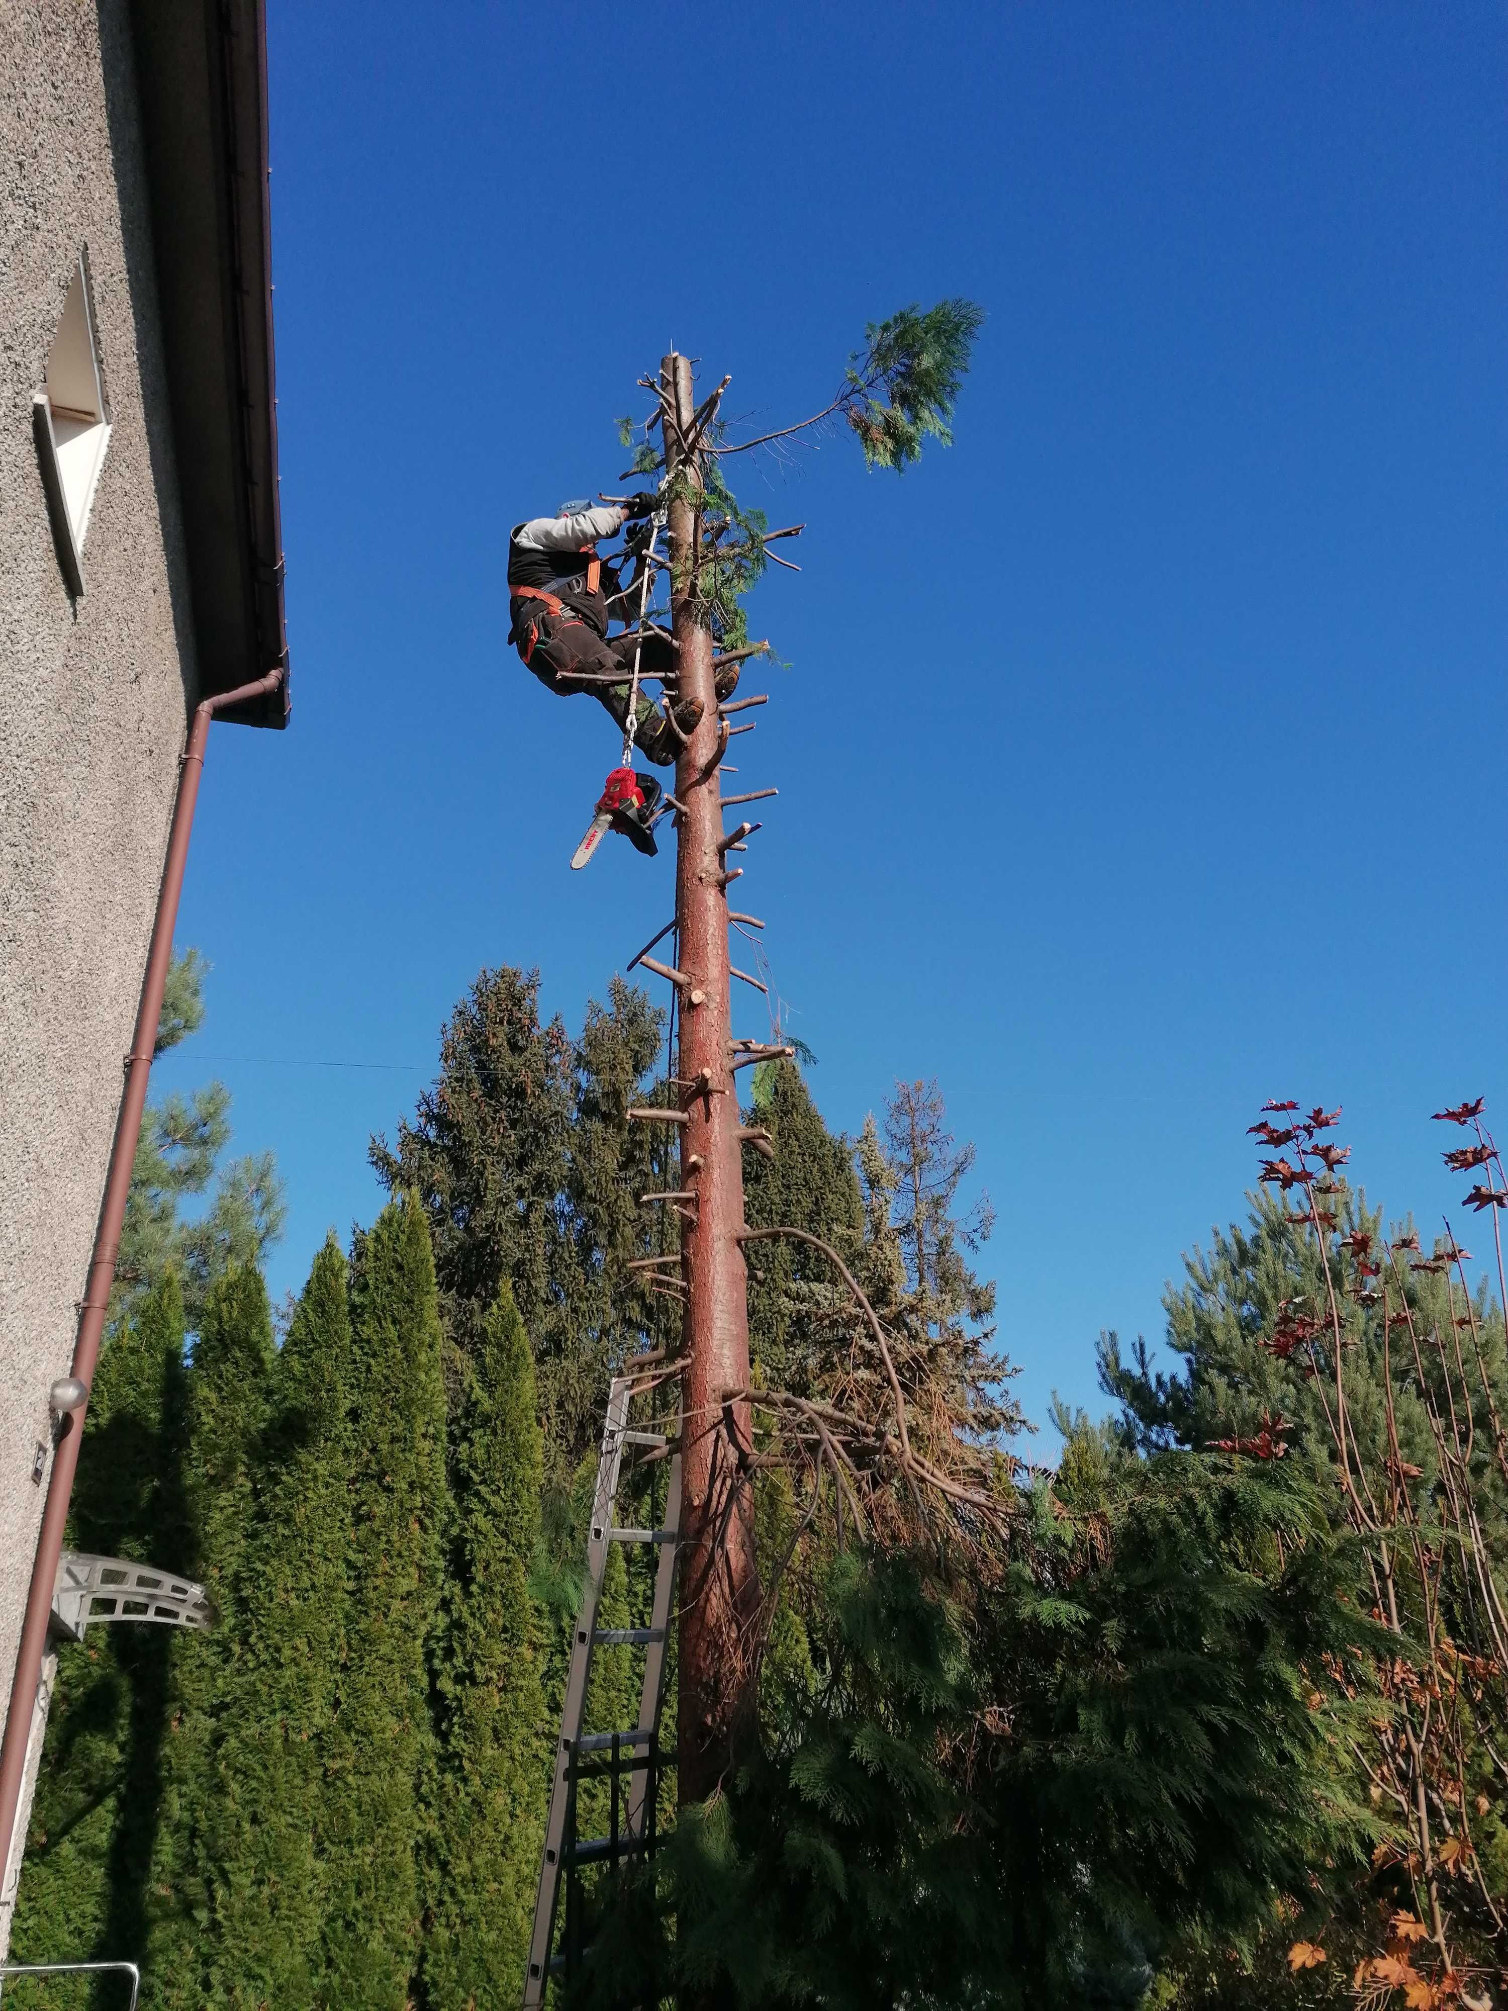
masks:
[[[215,1621],[173,1641],[145,2001],[175,2011],[215,2001],[221,1756],[239,1731],[245,1563],[271,1369],[267,1287],[251,1265],[233,1265],[209,1289],[187,1374],[185,1569],[207,1587]]]

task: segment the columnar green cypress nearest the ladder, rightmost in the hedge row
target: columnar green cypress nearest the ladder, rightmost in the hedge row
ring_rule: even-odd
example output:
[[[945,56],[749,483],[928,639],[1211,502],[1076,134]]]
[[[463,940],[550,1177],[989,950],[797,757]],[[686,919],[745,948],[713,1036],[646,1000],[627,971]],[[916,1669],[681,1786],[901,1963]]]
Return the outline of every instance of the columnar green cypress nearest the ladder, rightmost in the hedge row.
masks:
[[[511,2007],[529,1955],[551,1752],[529,1569],[539,1542],[535,1365],[507,1283],[452,1432],[454,1526],[434,1645],[436,1874],[424,1999]]]

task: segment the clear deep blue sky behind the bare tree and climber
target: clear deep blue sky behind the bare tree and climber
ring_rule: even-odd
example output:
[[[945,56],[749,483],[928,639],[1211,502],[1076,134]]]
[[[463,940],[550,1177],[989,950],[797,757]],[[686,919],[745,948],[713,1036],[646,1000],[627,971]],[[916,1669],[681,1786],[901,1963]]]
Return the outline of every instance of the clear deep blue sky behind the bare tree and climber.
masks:
[[[294,724],[211,740],[211,1016],[159,1086],[275,1148],[277,1293],[374,1213],[483,963],[575,1026],[670,915],[670,859],[567,871],[615,748],[505,644],[509,525],[615,487],[672,342],[764,430],[945,294],[989,314],[949,452],[738,471],[808,523],[740,770],[828,1122],[939,1078],[1038,1416],[1162,1331],[1263,1098],[1341,1102],[1389,1209],[1458,1201],[1428,1112],[1508,1088],[1506,40],[1474,0],[269,0]]]

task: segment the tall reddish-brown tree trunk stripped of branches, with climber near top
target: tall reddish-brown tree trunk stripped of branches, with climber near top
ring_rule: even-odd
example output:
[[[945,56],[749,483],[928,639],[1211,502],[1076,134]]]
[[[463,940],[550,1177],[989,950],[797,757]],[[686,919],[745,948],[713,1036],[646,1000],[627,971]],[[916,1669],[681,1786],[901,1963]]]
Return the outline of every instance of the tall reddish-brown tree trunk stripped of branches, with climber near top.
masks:
[[[678,487],[700,487],[696,452],[684,442],[696,412],[692,364],[668,356],[662,386],[674,420],[664,424],[666,467]],[[676,424],[678,422],[678,424]],[[678,436],[680,428],[680,436]],[[684,1552],[680,1621],[680,1796],[702,1800],[722,1778],[744,1689],[758,1581],[754,1526],[742,1454],[750,1448],[748,1406],[724,1392],[748,1388],[748,1277],[738,1231],[744,1227],[744,1168],[738,1140],[738,1090],[730,1068],[728,897],[720,853],[722,730],[712,678],[712,633],[694,591],[700,509],[682,495],[670,507],[674,631],[680,644],[680,694],[702,702],[702,722],[676,770],[680,843],[676,857],[680,993],[680,1080],[688,1122],[680,1126],[682,1186],[696,1193],[694,1221],[682,1229],[688,1285],[682,1394]],[[692,1094],[700,1084],[702,1094]],[[730,1430],[732,1426],[732,1430]]]

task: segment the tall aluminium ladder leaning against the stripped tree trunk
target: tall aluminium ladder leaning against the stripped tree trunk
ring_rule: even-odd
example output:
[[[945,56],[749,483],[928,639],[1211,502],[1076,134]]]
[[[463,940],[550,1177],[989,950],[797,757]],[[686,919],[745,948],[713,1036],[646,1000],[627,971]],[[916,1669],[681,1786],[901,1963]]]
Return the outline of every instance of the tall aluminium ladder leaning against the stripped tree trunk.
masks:
[[[577,1864],[595,1864],[609,1856],[615,1862],[619,1850],[625,1854],[641,1852],[645,1840],[653,1836],[653,1810],[645,1810],[645,1788],[651,1786],[651,1762],[659,1735],[659,1703],[666,1685],[666,1643],[670,1639],[670,1607],[676,1589],[676,1552],[680,1548],[682,1526],[682,1456],[680,1442],[666,1432],[631,1430],[629,1404],[641,1390],[659,1386],[659,1378],[645,1386],[645,1374],[659,1359],[659,1355],[635,1357],[627,1363],[623,1376],[613,1378],[607,1390],[607,1422],[603,1424],[597,1486],[591,1498],[587,1585],[571,1641],[571,1669],[565,1683],[561,1735],[555,1746],[555,1778],[549,1796],[549,1822],[545,1826],[545,1854],[539,1866],[539,1896],[535,1898],[535,1927],[529,1941],[529,1969],[523,1983],[523,2011],[539,2011],[543,2007],[551,1975],[563,1967],[563,1957],[551,1963],[561,1878],[569,1876]],[[623,1470],[623,1454],[629,1446],[643,1446],[651,1456],[668,1458],[666,1514],[659,1528],[627,1528],[617,1522],[617,1480]],[[607,1571],[609,1542],[649,1542],[659,1546],[647,1627],[597,1627],[597,1605]],[[595,1647],[643,1647],[645,1651],[639,1721],[633,1729],[593,1731],[585,1735],[581,1731],[587,1681],[591,1677],[591,1651]],[[627,1822],[621,1838],[617,1824],[613,1824],[615,1834],[611,1838],[567,1842],[567,1826],[575,1828],[579,1758],[585,1754],[611,1754],[617,1760],[621,1750],[631,1754],[627,1762]],[[613,1804],[617,1804],[615,1772]],[[647,1824],[645,1814],[649,1818]]]

